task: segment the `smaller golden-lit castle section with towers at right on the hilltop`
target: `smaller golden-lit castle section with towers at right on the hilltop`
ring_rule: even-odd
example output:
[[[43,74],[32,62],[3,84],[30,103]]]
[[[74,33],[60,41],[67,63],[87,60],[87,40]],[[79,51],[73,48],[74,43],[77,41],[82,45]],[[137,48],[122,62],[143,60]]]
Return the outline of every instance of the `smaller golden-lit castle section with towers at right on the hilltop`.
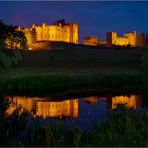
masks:
[[[116,32],[106,33],[106,46],[127,46],[136,47],[136,32],[125,33],[123,37],[118,37]]]

